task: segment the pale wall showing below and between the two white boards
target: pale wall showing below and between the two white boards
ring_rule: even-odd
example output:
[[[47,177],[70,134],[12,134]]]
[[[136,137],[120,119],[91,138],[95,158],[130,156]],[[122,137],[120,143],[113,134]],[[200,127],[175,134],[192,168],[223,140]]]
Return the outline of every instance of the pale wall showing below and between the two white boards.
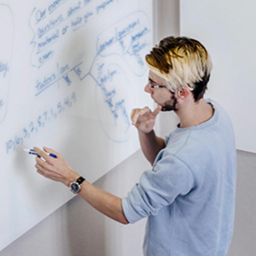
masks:
[[[179,1],[155,1],[160,26],[157,38],[177,35]],[[175,124],[173,115],[161,113],[160,134]],[[169,121],[172,120],[172,121]],[[256,154],[237,151],[235,228],[229,256],[253,256],[256,251]],[[150,165],[137,151],[94,185],[119,197],[125,196]],[[93,170],[92,170],[93,171]],[[18,218],[18,216],[17,216]],[[145,219],[124,226],[90,207],[79,196],[45,218],[0,252],[0,256],[141,256]]]

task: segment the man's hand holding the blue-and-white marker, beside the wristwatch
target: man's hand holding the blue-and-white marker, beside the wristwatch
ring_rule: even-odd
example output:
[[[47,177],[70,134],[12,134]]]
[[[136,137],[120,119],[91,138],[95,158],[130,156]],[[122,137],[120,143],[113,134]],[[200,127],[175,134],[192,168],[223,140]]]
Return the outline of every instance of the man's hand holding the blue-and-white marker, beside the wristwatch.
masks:
[[[68,165],[62,155],[58,152],[51,148],[44,147],[45,152],[57,156],[57,158],[53,158],[37,147],[34,147],[33,149],[40,155],[40,157],[35,158],[35,168],[39,174],[51,180],[60,181],[66,186],[69,186],[70,182],[79,178],[79,174]],[[44,158],[45,161],[41,157]]]

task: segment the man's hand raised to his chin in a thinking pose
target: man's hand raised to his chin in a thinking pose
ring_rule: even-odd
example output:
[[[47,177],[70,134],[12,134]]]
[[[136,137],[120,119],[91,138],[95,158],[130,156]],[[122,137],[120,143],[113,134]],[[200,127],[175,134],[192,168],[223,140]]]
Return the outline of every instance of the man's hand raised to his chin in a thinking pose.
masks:
[[[161,105],[152,112],[150,108],[134,108],[131,111],[131,122],[141,132],[147,134],[154,128],[156,116],[162,109]]]

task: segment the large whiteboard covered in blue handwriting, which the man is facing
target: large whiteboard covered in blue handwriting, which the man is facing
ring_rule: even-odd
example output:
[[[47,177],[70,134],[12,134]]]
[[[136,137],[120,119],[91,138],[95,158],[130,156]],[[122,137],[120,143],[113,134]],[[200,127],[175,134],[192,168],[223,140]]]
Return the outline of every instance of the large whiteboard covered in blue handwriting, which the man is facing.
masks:
[[[151,17],[148,0],[0,3],[0,250],[73,197],[23,148],[55,149],[91,183],[139,148]]]

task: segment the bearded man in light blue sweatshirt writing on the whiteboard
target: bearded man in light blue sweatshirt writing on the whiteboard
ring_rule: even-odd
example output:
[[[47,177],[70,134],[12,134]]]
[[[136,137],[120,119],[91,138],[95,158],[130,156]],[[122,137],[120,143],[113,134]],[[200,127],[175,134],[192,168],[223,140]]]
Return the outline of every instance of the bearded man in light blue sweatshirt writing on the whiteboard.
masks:
[[[157,103],[134,109],[133,125],[152,169],[126,198],[118,198],[78,180],[79,195],[123,224],[148,217],[143,244],[146,256],[227,256],[233,233],[236,149],[224,110],[203,96],[211,60],[198,41],[168,37],[146,55],[150,69],[145,91]],[[175,111],[177,128],[163,140],[154,134],[160,111]],[[35,167],[45,177],[69,186],[79,178],[63,157],[38,148]],[[75,184],[76,186],[76,184]]]

